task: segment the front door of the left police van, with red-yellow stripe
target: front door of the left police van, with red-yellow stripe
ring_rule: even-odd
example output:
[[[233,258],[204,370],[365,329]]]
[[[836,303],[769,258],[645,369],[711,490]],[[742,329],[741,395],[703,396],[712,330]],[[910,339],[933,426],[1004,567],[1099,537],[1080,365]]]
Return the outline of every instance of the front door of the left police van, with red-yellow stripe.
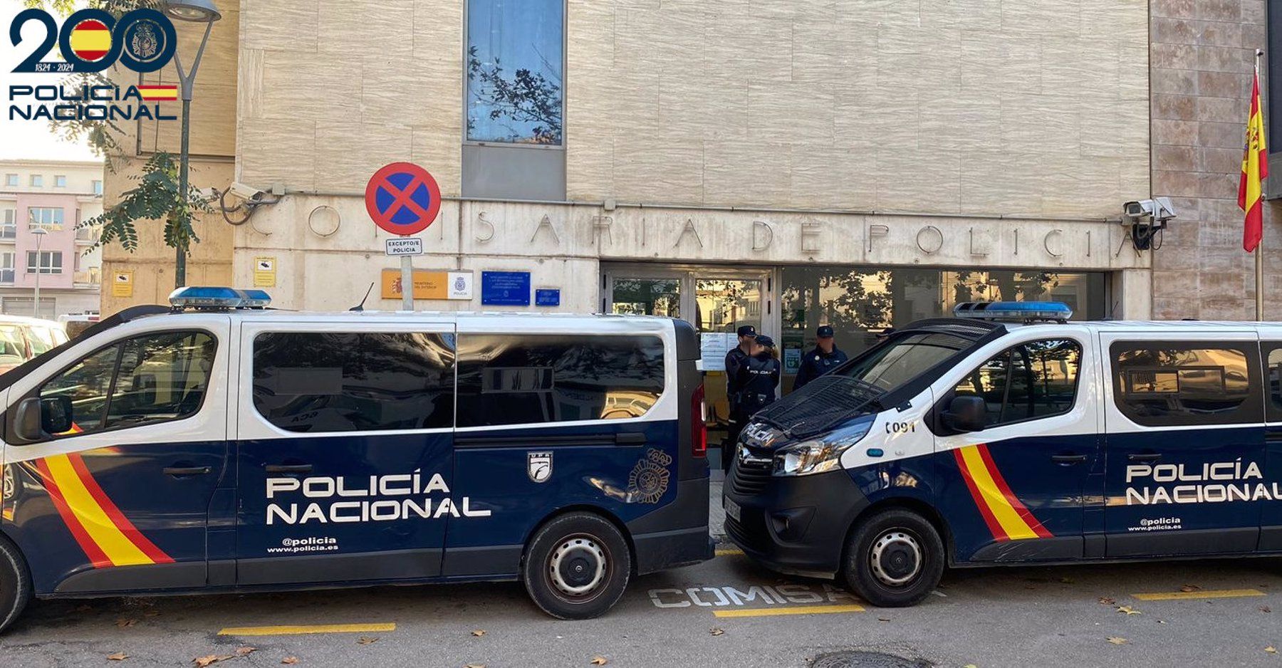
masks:
[[[228,460],[229,335],[224,314],[142,318],[10,387],[3,518],[38,594],[206,585],[208,513]],[[27,400],[69,422],[22,437]]]

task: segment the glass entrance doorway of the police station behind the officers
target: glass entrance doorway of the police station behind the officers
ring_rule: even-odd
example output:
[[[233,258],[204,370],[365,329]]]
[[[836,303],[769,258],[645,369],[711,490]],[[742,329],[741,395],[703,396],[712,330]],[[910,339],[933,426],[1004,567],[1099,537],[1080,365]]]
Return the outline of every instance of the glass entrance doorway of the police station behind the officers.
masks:
[[[701,344],[731,335],[745,324],[758,333],[777,337],[773,317],[774,273],[769,268],[740,269],[715,265],[637,265],[603,268],[601,308],[605,313],[665,315],[695,326]],[[726,394],[724,358],[705,359],[704,392],[708,401],[709,465],[720,467],[720,449],[727,437],[729,401]]]

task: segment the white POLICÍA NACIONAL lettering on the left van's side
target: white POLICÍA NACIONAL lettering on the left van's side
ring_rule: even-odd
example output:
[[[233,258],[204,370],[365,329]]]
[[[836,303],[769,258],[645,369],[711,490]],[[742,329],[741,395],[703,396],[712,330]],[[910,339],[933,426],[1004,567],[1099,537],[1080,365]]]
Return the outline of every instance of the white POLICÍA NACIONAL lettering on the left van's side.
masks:
[[[445,496],[431,496],[442,494]],[[490,517],[490,510],[476,510],[472,499],[458,501],[449,496],[450,487],[440,473],[369,476],[368,480],[315,476],[306,478],[267,478],[268,524],[318,524],[342,522],[394,522],[397,519],[438,519],[441,517]],[[301,495],[301,501],[274,501]],[[381,499],[391,496],[392,499]],[[314,500],[312,500],[314,499]],[[341,500],[338,500],[341,499]]]

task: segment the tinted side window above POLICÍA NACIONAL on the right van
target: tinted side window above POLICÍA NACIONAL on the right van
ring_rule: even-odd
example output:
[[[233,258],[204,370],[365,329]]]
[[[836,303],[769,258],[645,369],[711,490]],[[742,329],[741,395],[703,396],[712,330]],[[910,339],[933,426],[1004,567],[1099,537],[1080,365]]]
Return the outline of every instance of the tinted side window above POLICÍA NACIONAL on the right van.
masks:
[[[1229,424],[1260,419],[1246,346],[1205,342],[1113,345],[1113,394],[1138,424]],[[1258,358],[1256,358],[1258,359]]]

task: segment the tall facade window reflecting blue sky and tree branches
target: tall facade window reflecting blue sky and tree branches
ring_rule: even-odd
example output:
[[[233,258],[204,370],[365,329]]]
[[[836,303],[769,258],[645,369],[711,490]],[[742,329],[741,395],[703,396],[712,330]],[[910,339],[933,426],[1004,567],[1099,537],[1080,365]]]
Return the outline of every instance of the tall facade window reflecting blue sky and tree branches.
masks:
[[[468,141],[562,144],[564,0],[469,0]]]

